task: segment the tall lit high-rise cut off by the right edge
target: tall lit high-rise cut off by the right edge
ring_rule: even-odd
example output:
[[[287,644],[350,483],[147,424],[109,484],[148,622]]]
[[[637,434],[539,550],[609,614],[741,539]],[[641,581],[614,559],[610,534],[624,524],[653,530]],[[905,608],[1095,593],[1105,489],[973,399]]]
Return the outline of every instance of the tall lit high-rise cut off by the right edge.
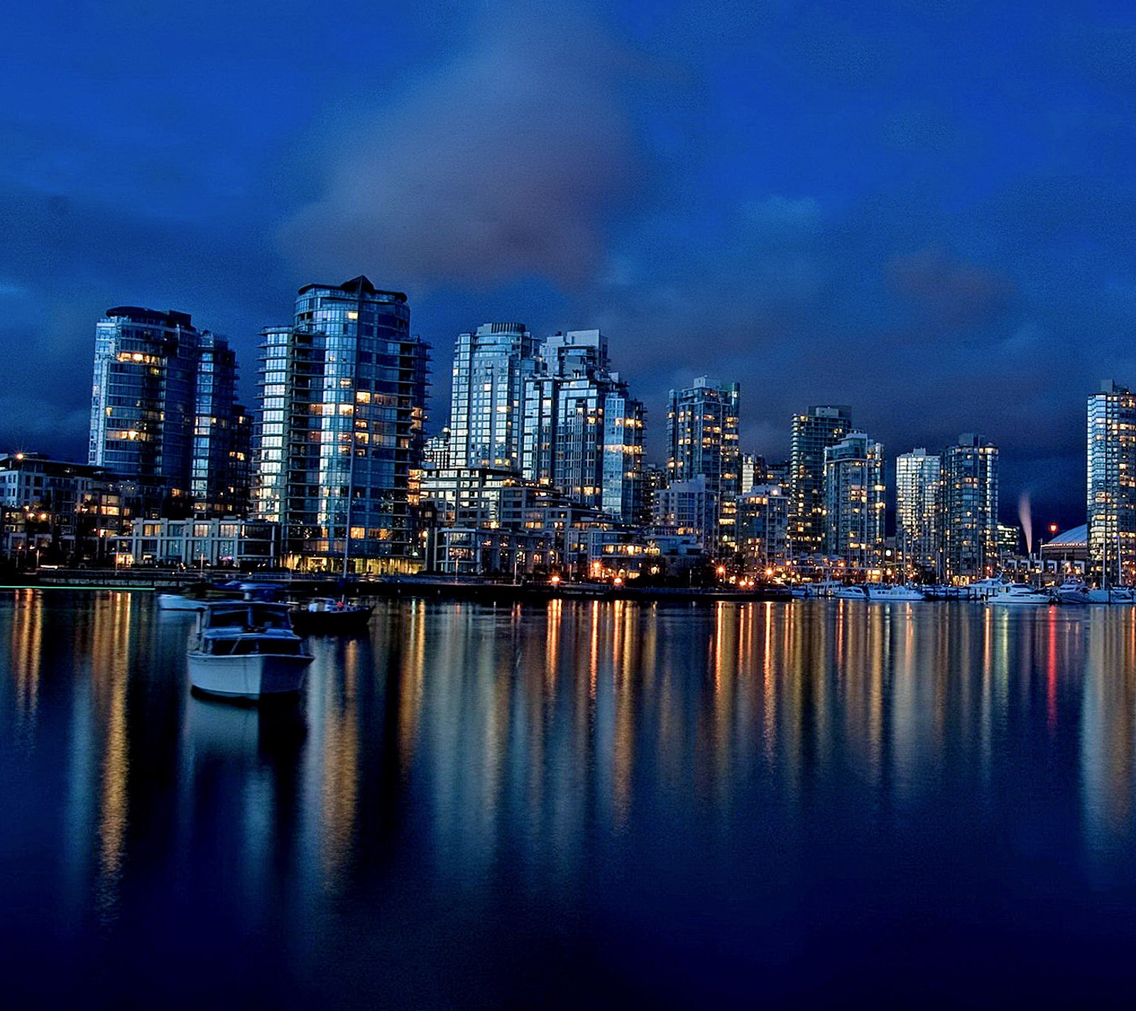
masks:
[[[1104,380],[1087,422],[1089,565],[1117,586],[1136,577],[1136,395]]]

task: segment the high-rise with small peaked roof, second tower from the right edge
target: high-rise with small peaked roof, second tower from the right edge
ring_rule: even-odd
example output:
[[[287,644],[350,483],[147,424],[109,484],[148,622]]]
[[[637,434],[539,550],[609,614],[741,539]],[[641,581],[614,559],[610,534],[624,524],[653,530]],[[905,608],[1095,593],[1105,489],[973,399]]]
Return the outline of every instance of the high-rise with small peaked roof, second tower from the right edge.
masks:
[[[964,432],[943,450],[943,561],[953,580],[999,567],[997,447]]]

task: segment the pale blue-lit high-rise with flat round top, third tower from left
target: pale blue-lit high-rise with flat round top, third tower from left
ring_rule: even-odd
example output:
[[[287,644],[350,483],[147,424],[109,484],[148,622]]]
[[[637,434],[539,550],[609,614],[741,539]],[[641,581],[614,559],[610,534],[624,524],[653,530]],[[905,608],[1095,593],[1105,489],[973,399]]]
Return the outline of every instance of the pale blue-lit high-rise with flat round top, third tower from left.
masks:
[[[520,470],[525,379],[536,341],[524,323],[483,323],[458,334],[450,400],[450,461],[458,467]]]

